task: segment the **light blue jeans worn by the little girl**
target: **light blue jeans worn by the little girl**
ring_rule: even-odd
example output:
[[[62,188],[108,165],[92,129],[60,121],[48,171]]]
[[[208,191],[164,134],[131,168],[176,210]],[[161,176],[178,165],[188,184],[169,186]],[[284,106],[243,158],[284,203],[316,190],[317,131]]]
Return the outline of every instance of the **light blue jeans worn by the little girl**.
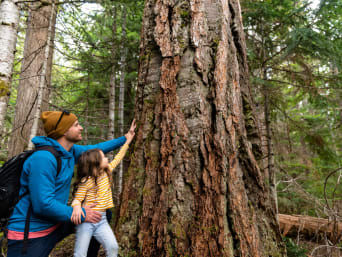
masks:
[[[98,223],[84,222],[76,226],[76,240],[74,257],[86,257],[91,237],[103,246],[107,257],[117,257],[119,246],[111,227],[108,224],[106,213],[102,213]]]

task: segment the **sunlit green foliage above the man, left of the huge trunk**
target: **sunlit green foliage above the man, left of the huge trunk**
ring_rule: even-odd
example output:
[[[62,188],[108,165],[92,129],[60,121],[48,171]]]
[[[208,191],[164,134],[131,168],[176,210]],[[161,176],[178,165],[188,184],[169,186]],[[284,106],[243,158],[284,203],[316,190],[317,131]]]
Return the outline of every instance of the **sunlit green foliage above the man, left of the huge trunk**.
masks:
[[[53,104],[78,114],[80,122],[87,127],[88,143],[106,138],[109,85],[115,72],[115,95],[118,96],[123,48],[127,52],[125,106],[129,108],[125,111],[125,121],[130,122],[134,113],[142,5],[143,1],[102,1],[101,5],[64,4],[60,10],[57,24],[60,30],[56,35],[58,65],[53,71],[53,84],[58,93]],[[122,38],[124,9],[126,38]]]

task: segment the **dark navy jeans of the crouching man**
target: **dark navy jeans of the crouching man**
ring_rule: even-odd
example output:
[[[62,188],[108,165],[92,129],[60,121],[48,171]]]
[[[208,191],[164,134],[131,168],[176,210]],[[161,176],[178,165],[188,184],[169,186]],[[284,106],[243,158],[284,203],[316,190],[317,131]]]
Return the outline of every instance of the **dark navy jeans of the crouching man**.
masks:
[[[112,212],[107,210],[107,219],[110,221],[112,218]],[[28,239],[27,253],[22,254],[23,240],[8,240],[7,257],[48,257],[52,249],[56,244],[75,232],[75,225],[71,222],[62,223],[62,225],[53,231],[51,234]],[[89,245],[88,257],[96,257],[100,244],[92,238]]]

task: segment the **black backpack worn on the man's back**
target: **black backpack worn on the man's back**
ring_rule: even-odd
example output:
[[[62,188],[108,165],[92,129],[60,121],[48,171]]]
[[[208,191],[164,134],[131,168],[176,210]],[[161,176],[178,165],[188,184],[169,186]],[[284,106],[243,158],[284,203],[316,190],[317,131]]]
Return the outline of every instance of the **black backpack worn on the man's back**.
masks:
[[[5,162],[4,165],[2,165],[2,167],[0,168],[0,228],[2,230],[4,230],[4,228],[7,226],[8,220],[13,212],[15,205],[21,198],[28,194],[28,192],[25,192],[23,195],[19,195],[20,176],[24,162],[29,156],[31,156],[31,154],[40,150],[49,151],[55,156],[57,160],[58,176],[61,169],[61,158],[59,156],[59,153],[52,146],[43,146],[34,150],[22,152]]]

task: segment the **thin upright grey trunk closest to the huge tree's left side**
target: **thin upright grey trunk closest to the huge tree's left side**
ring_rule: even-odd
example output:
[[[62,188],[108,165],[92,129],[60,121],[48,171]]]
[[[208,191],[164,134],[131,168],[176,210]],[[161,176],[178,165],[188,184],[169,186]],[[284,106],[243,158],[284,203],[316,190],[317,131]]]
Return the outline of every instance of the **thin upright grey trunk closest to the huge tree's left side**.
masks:
[[[121,47],[121,74],[120,74],[120,92],[119,92],[119,128],[120,134],[124,134],[124,104],[125,104],[125,77],[126,77],[126,8],[122,8],[122,47]],[[123,176],[123,162],[120,162],[118,175],[118,195],[122,192],[122,176]]]

